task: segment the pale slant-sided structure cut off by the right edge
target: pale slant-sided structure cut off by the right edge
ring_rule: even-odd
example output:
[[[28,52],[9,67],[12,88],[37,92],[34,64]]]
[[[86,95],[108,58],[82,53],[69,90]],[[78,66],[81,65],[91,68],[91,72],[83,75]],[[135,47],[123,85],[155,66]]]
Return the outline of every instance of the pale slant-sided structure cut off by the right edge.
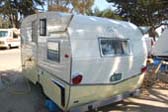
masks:
[[[162,59],[168,60],[168,48],[167,48],[167,41],[168,41],[168,29],[165,29],[164,32],[161,34],[159,39],[157,40],[156,44],[152,49],[152,55],[155,57],[161,57]]]

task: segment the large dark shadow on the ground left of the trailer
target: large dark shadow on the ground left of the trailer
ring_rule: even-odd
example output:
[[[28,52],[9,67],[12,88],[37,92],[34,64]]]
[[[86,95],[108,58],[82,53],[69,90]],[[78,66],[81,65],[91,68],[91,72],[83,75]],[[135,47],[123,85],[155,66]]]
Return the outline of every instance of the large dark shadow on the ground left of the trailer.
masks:
[[[48,112],[41,90],[18,71],[0,72],[0,111]]]

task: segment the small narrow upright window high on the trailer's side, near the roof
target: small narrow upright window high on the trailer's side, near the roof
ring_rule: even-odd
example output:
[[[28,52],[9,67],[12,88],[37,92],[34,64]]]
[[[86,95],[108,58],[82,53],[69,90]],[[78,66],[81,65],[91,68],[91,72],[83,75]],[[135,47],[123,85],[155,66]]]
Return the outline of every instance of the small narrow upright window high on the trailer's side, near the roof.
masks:
[[[40,36],[46,36],[47,35],[47,20],[46,19],[40,19]]]

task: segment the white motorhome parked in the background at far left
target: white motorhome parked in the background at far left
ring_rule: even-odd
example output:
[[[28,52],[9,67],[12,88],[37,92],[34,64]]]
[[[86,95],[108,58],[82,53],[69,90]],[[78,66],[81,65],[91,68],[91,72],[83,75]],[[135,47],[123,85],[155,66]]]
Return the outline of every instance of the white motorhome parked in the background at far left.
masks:
[[[0,29],[0,47],[11,48],[20,46],[20,31],[18,29]]]

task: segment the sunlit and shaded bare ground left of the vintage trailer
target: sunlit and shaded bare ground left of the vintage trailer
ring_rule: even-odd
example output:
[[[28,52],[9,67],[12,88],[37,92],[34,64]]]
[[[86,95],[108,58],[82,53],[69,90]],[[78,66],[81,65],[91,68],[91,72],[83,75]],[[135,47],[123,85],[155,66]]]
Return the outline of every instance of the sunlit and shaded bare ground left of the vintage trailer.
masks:
[[[39,88],[21,73],[20,49],[0,50],[0,112],[48,112]]]

